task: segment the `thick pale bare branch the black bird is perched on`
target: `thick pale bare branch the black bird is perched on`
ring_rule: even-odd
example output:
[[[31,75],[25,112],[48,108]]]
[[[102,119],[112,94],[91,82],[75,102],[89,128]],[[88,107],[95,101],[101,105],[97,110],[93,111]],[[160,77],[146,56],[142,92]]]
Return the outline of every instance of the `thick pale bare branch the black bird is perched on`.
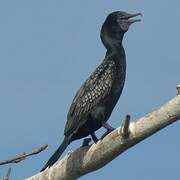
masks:
[[[129,124],[127,119],[97,144],[78,148],[26,180],[75,180],[102,168],[125,150],[180,119],[180,95],[135,122]]]

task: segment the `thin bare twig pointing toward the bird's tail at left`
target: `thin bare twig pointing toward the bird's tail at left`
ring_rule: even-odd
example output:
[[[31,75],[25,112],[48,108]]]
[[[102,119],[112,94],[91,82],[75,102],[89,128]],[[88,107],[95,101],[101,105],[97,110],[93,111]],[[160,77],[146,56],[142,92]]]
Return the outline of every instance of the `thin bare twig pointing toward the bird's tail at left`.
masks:
[[[48,144],[45,144],[37,149],[34,149],[32,152],[30,153],[23,153],[15,158],[12,158],[12,159],[9,159],[9,160],[3,160],[3,161],[0,161],[0,165],[3,165],[3,164],[9,164],[9,163],[18,163],[24,159],[26,159],[26,157],[28,156],[32,156],[34,154],[38,154],[40,153],[41,151],[44,151],[46,148],[48,147]]]

